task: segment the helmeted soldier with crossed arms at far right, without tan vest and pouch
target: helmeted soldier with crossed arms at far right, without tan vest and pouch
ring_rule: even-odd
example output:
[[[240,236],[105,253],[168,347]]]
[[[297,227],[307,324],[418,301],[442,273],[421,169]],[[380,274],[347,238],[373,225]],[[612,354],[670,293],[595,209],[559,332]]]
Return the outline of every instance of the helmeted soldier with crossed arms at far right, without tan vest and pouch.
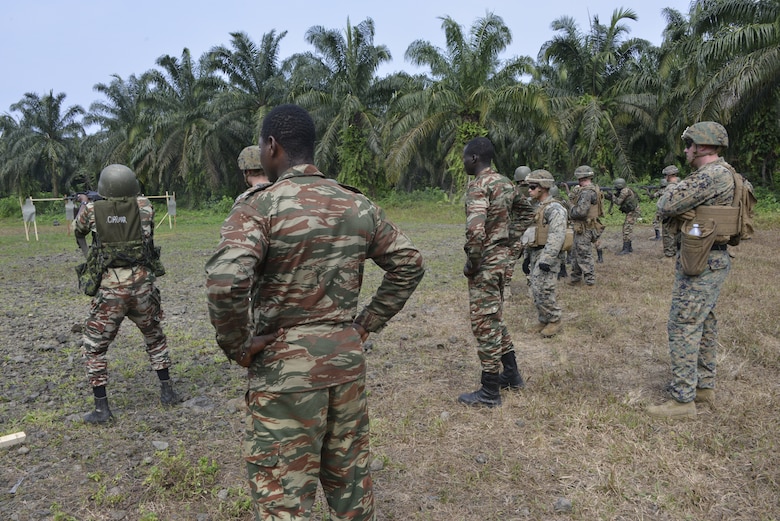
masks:
[[[696,170],[684,181],[667,187],[657,204],[663,218],[673,219],[675,231],[695,219],[700,206],[730,206],[736,174],[720,157],[729,141],[726,129],[719,123],[704,121],[691,125],[682,139],[687,162]],[[726,247],[716,241],[707,266],[696,276],[683,273],[678,255],[667,323],[672,399],[649,407],[648,413],[653,417],[695,418],[696,402],[713,405],[718,345],[715,305],[731,269]]]

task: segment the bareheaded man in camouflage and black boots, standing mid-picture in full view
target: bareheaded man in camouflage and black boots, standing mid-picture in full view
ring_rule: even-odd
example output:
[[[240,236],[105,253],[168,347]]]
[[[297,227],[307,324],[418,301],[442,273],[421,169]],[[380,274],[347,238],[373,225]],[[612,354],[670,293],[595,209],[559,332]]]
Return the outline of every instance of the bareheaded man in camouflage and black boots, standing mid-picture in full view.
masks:
[[[501,405],[501,388],[524,386],[515,347],[504,323],[504,277],[510,258],[512,182],[491,168],[493,144],[474,138],[463,151],[466,173],[475,176],[466,188],[466,265],[471,331],[477,339],[482,387],[458,397],[467,405]],[[501,367],[503,365],[503,372]]]

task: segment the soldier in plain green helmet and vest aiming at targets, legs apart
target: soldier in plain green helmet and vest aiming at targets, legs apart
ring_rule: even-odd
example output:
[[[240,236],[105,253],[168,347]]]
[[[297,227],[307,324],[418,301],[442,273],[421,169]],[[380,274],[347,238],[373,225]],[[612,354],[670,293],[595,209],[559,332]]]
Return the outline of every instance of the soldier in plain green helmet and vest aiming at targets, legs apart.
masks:
[[[132,170],[124,165],[109,165],[101,171],[98,181],[98,193],[103,200],[82,202],[73,221],[74,235],[86,237],[91,233],[90,248],[95,250],[91,254],[107,259],[84,326],[82,350],[95,398],[95,410],[84,417],[88,423],[104,423],[113,417],[106,395],[106,353],[125,317],[144,336],[149,361],[160,380],[160,401],[164,405],[179,401],[170,379],[171,359],[161,325],[160,290],[154,285],[155,265],[150,257],[155,249],[154,208],[149,199],[138,195],[139,191]],[[128,235],[122,236],[125,230]],[[157,270],[157,275],[162,273]]]

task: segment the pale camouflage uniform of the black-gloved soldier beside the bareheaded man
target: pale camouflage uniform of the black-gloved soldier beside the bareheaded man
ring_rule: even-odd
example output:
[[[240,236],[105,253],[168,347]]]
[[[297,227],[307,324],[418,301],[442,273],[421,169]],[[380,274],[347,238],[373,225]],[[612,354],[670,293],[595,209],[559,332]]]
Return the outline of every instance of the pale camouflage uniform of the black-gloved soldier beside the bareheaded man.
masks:
[[[556,301],[555,289],[561,261],[566,257],[566,252],[562,251],[562,248],[566,238],[567,220],[566,208],[552,197],[539,204],[534,216],[537,227],[542,224],[548,227],[545,245],[527,248],[530,259],[531,292],[540,324],[550,324],[561,319],[561,308]],[[550,271],[541,270],[540,263],[549,265]]]

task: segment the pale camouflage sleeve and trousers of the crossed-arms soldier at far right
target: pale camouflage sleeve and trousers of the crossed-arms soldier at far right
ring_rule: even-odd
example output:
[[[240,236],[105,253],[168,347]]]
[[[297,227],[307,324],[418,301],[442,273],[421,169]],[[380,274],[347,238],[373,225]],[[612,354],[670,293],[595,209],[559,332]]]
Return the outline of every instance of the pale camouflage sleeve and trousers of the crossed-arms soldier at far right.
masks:
[[[673,218],[700,205],[731,205],[734,197],[732,168],[722,158],[706,164],[684,181],[669,185],[658,200],[663,218]],[[685,275],[679,255],[667,330],[672,362],[672,396],[691,402],[696,389],[715,386],[717,319],[715,305],[731,259],[725,245],[709,253],[708,266],[697,276]]]

